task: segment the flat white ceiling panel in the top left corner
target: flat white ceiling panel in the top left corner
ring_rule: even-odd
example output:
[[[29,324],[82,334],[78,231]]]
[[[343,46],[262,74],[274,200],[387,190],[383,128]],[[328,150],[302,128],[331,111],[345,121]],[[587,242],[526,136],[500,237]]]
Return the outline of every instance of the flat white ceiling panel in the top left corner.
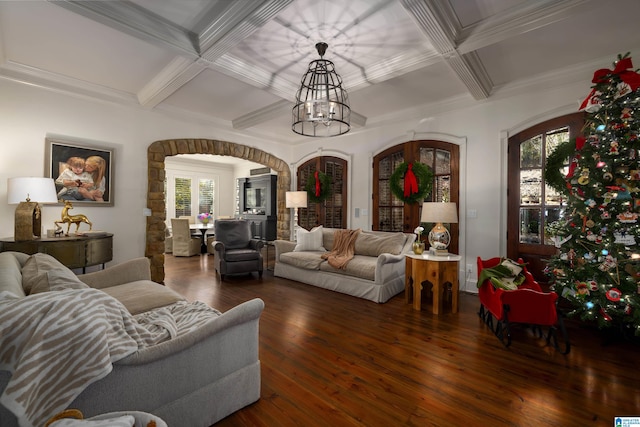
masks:
[[[5,61],[135,94],[174,56],[47,2],[0,2]]]

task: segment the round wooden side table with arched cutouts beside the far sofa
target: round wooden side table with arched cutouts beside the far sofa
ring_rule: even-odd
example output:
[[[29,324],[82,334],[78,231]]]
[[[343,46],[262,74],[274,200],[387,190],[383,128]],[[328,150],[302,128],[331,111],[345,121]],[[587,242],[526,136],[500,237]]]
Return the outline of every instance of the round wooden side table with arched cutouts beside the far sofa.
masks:
[[[444,285],[451,284],[451,311],[458,312],[458,264],[460,255],[449,254],[436,256],[424,253],[406,255],[404,298],[409,304],[413,296],[414,310],[421,309],[422,282],[428,281],[433,286],[433,314],[440,314]],[[413,286],[413,292],[411,287]],[[413,295],[412,295],[413,294]]]

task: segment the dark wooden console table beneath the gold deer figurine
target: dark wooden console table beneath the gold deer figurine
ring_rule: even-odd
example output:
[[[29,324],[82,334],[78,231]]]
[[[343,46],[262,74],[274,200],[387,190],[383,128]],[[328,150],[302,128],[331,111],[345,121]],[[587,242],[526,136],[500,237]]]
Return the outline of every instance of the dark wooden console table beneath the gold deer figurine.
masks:
[[[15,251],[29,255],[49,254],[70,269],[104,264],[113,259],[113,234],[95,236],[43,237],[16,242],[13,237],[0,239],[0,252]]]

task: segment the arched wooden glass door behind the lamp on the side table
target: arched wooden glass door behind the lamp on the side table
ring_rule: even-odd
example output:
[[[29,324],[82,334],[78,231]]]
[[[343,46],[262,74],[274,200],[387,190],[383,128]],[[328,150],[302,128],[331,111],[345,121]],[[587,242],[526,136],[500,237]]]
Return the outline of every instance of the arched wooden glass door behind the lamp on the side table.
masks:
[[[459,207],[460,149],[442,141],[409,141],[379,153],[373,159],[372,229],[413,233],[420,224],[421,203],[405,204],[393,195],[390,178],[403,162],[419,162],[431,168],[433,182],[425,202],[454,202]],[[460,215],[458,214],[458,217]],[[421,224],[430,230],[435,224]],[[458,224],[444,224],[451,234],[449,251],[458,252]]]

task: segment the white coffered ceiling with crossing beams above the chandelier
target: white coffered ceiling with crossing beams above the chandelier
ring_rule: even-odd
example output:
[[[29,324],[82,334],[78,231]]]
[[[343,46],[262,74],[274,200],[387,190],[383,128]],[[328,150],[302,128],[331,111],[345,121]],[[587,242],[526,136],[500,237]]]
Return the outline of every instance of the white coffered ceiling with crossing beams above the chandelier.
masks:
[[[357,132],[576,78],[586,94],[640,54],[638,16],[638,0],[0,1],[0,78],[295,144],[317,42]]]

